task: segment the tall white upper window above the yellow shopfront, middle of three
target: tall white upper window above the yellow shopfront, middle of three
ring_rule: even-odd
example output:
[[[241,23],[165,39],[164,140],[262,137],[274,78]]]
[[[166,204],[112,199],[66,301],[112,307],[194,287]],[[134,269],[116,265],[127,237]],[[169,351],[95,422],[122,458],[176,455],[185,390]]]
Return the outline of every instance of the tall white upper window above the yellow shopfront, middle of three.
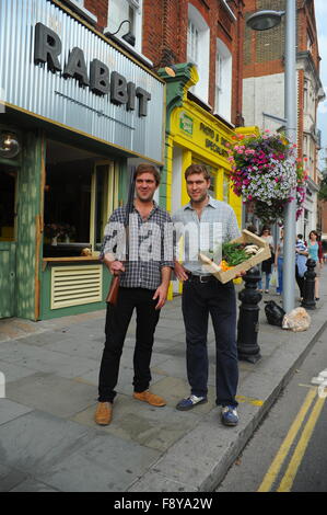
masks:
[[[208,102],[210,28],[199,11],[188,4],[187,60],[196,65],[199,81],[190,92]]]

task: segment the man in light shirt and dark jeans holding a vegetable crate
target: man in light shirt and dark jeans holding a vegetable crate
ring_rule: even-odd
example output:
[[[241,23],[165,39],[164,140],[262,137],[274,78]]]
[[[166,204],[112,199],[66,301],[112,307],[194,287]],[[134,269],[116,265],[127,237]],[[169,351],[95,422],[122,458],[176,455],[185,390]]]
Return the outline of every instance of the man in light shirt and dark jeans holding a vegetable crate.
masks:
[[[175,275],[183,282],[182,310],[186,330],[186,365],[190,396],[182,399],[176,409],[186,411],[207,402],[207,333],[210,313],[217,348],[215,403],[222,407],[222,423],[234,426],[238,423],[235,400],[238,364],[234,284],[232,281],[222,284],[203,271],[198,253],[200,250],[213,249],[214,232],[220,237],[220,242],[225,242],[238,238],[240,230],[232,207],[211,198],[208,194],[210,174],[205,165],[188,167],[185,180],[190,202],[175,213],[173,222],[177,240],[180,226],[188,228],[188,238],[185,238],[184,247],[185,259],[183,264],[175,261]],[[207,234],[207,238],[202,234]],[[206,239],[207,249],[203,249]]]

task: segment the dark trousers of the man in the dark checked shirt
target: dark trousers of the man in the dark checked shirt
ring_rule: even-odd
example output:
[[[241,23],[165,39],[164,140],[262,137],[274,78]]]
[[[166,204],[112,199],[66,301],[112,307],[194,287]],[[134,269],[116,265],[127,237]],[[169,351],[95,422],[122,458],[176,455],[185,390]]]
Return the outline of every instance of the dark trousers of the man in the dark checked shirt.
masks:
[[[156,300],[152,300],[154,290],[144,288],[119,288],[116,306],[107,306],[106,342],[102,356],[98,378],[98,401],[113,402],[118,381],[119,363],[127,329],[137,310],[137,334],[133,354],[135,391],[144,391],[151,381],[150,362],[153,336],[159,321],[160,310],[155,310]]]

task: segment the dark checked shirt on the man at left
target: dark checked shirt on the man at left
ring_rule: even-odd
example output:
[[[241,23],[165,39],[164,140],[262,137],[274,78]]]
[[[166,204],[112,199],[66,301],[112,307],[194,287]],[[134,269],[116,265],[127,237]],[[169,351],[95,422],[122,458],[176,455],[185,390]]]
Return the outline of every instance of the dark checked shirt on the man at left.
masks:
[[[124,262],[125,272],[120,274],[120,286],[156,289],[162,283],[161,268],[174,267],[172,219],[155,202],[147,220],[133,207],[127,229],[127,251],[125,217],[125,207],[113,211],[105,227],[100,259],[110,253]]]

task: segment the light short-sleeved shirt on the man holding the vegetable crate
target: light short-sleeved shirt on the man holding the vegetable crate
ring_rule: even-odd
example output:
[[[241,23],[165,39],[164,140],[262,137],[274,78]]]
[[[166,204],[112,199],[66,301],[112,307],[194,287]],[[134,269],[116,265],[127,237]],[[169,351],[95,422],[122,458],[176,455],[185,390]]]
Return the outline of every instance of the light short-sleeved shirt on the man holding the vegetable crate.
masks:
[[[186,270],[196,275],[208,274],[199,261],[199,252],[218,255],[222,243],[241,236],[233,208],[211,196],[200,219],[189,202],[173,215],[173,222],[176,231],[176,258]],[[183,233],[184,238],[180,240]],[[182,249],[178,241],[182,241]]]

